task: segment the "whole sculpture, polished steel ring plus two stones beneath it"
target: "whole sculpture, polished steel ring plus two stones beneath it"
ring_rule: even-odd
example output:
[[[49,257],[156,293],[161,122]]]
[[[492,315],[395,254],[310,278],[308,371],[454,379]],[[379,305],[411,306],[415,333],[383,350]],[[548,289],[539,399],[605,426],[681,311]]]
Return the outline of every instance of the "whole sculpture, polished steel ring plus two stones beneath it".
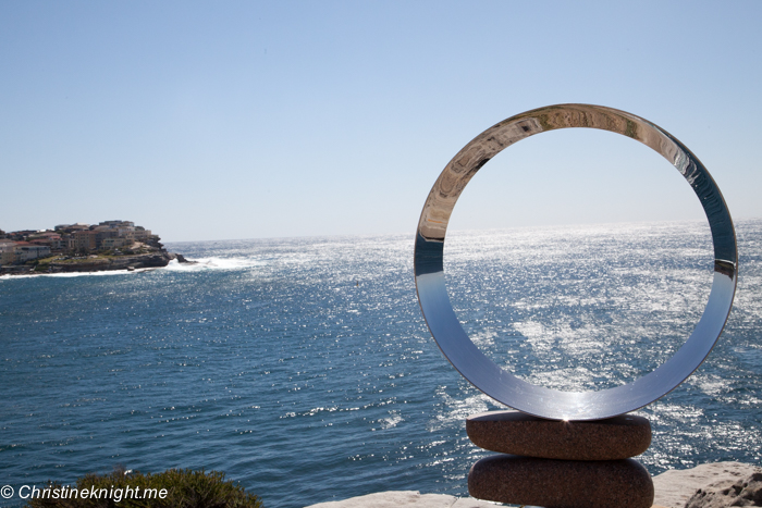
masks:
[[[712,290],[704,312],[688,340],[671,359],[649,374],[632,383],[599,392],[550,389],[527,383],[501,369],[474,345],[463,330],[444,284],[443,247],[447,223],[470,178],[490,159],[511,145],[536,134],[570,127],[599,128],[622,134],[649,146],[667,159],[683,174],[701,201],[714,247]],[[622,416],[647,406],[674,389],[706,358],[730,312],[737,268],[733,221],[714,179],[688,148],[647,120],[601,106],[558,104],[512,116],[474,138],[445,166],[429,193],[418,222],[414,269],[421,311],[444,356],[477,388],[530,416],[495,412],[469,418],[469,437],[477,445],[505,454],[519,454],[489,457],[477,462],[469,473],[471,494],[502,503],[537,505],[538,499],[531,497],[530,498],[521,497],[525,494],[517,494],[518,491],[513,488],[516,485],[505,488],[506,482],[511,483],[513,478],[515,483],[515,479],[526,479],[532,474],[542,478],[553,471],[554,474],[575,479],[567,482],[570,491],[580,485],[583,490],[586,482],[594,485],[598,481],[623,484],[635,481],[640,486],[636,488],[636,494],[630,493],[614,500],[579,499],[579,492],[582,491],[567,494],[566,500],[560,500],[557,496],[542,497],[543,487],[540,486],[539,500],[551,503],[552,506],[607,506],[615,503],[618,506],[650,507],[649,495],[653,499],[650,476],[641,466],[629,459],[648,448],[650,424],[644,419],[637,421],[639,417]],[[644,426],[648,428],[646,434]],[[518,429],[533,429],[527,431],[528,444],[523,448],[529,451],[515,451]],[[491,434],[491,441],[487,439],[488,445],[483,441],[486,434]],[[572,437],[575,434],[576,442]],[[617,441],[627,441],[635,434],[640,436],[636,446],[617,446]],[[552,447],[548,445],[549,436],[565,441],[568,453],[561,458],[549,457],[549,450],[553,455]],[[613,455],[595,455],[592,449],[601,448],[605,439],[613,439],[613,445],[606,446],[619,448],[618,451]],[[592,466],[593,462],[597,466]],[[648,482],[642,478],[643,472]]]

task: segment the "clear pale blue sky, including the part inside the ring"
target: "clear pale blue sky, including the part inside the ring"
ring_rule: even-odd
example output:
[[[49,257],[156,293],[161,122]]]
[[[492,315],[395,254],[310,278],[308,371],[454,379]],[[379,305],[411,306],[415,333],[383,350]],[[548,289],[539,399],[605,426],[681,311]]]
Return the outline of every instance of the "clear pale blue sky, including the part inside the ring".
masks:
[[[446,163],[556,103],[683,141],[762,218],[759,1],[3,1],[0,228],[130,220],[163,241],[415,233]],[[704,220],[631,139],[541,134],[451,230]]]

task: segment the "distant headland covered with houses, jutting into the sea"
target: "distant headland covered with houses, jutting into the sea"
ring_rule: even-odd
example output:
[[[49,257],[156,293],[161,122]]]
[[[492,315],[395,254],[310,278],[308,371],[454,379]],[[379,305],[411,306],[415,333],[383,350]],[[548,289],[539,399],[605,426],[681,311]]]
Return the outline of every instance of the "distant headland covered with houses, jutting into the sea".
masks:
[[[59,224],[52,231],[0,231],[0,265],[23,264],[51,253],[89,255],[98,251],[113,252],[115,249],[142,252],[161,250],[159,240],[150,230],[136,226],[132,221],[103,221],[97,225],[81,222]]]

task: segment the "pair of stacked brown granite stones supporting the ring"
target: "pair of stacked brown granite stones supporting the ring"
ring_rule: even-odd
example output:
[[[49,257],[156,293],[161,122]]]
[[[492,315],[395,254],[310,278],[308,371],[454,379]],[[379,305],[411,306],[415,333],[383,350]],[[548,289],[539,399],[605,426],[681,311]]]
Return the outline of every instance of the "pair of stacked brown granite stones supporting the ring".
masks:
[[[650,508],[653,482],[631,457],[651,444],[641,417],[554,421],[518,411],[474,414],[471,442],[501,455],[468,473],[472,497],[548,508]]]

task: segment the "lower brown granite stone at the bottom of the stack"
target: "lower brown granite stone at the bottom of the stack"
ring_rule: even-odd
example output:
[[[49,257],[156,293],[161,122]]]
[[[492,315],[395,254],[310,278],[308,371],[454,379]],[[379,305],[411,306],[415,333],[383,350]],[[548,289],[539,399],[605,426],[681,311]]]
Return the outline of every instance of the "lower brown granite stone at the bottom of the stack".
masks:
[[[631,459],[495,455],[471,467],[468,493],[478,499],[548,508],[650,508],[653,504],[651,475]]]

